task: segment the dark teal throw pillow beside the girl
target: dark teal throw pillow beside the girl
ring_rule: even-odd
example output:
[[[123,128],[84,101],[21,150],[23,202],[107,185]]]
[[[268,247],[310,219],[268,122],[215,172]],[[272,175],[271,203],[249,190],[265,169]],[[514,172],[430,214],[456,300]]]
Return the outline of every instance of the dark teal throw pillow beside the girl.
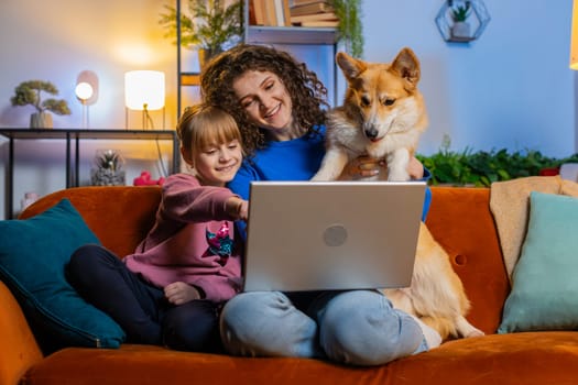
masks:
[[[100,243],[68,199],[26,220],[0,221],[0,279],[20,302],[44,353],[65,346],[118,348],[122,329],[65,278],[80,245]]]

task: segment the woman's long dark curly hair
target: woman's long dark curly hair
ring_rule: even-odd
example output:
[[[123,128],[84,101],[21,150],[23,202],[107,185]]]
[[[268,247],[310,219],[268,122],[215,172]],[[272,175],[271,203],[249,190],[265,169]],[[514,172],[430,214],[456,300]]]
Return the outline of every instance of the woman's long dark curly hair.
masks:
[[[286,52],[239,44],[207,64],[200,74],[200,90],[206,103],[221,107],[237,120],[249,155],[265,147],[266,139],[250,121],[232,88],[233,81],[248,70],[271,72],[281,79],[292,100],[293,119],[304,133],[316,133],[318,125],[325,123],[327,89],[314,72]]]

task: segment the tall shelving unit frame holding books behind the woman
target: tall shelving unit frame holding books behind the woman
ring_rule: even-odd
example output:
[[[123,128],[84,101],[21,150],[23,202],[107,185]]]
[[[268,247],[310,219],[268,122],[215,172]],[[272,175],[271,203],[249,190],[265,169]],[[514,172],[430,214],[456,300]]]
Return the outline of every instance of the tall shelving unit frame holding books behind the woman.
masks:
[[[332,46],[332,55],[328,59],[332,63],[331,80],[334,85],[334,102],[337,100],[337,65],[335,64],[335,55],[337,54],[337,30],[332,28],[303,28],[303,26],[263,26],[249,25],[249,2],[244,1],[244,38],[243,42],[248,44],[269,44],[269,45],[330,45]],[[177,15],[181,14],[181,0],[176,1]],[[179,18],[177,18],[179,19]],[[177,114],[181,116],[182,110],[182,87],[198,86],[200,74],[188,73],[182,70],[182,47],[181,47],[181,29],[177,23]],[[178,117],[177,117],[178,118]]]

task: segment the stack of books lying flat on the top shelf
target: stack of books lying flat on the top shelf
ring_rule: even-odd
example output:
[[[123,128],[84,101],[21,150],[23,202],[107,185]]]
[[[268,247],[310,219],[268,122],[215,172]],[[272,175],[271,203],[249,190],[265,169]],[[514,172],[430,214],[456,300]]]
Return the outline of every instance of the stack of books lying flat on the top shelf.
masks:
[[[336,28],[339,24],[329,1],[293,0],[290,15],[292,25]]]

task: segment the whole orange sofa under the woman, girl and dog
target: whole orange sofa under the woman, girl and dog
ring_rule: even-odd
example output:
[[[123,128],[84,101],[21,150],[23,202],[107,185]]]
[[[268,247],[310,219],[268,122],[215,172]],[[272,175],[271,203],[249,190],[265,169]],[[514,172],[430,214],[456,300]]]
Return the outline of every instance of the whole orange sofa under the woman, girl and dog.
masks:
[[[67,197],[99,240],[130,253],[154,220],[159,187],[79,187],[48,195],[29,218]],[[17,384],[576,384],[578,333],[497,334],[509,280],[486,188],[434,187],[427,220],[448,251],[487,336],[446,341],[377,367],[304,359],[244,359],[122,344],[66,348],[44,356],[17,300],[0,282],[0,385]],[[280,332],[283,332],[280,330]]]

